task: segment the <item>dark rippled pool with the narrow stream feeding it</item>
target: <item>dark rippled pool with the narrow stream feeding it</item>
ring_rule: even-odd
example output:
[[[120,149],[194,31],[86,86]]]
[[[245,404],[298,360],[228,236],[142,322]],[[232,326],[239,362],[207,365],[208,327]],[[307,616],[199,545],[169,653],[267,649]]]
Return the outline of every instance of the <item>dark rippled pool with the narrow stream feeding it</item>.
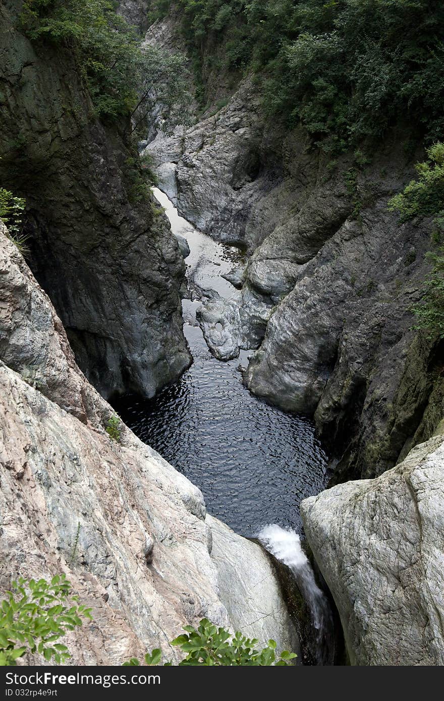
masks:
[[[193,296],[217,285],[220,294],[229,295],[231,286],[220,271],[241,262],[241,253],[194,231],[166,196],[156,194],[173,231],[190,245],[186,262]],[[144,442],[201,488],[208,512],[238,533],[254,536],[269,523],[300,529],[300,501],[326,482],[326,456],[313,423],[250,395],[238,371],[248,353],[230,362],[213,358],[196,326],[197,305],[199,299],[184,300],[184,332],[194,358],[189,371],[154,399],[124,397],[116,409]]]

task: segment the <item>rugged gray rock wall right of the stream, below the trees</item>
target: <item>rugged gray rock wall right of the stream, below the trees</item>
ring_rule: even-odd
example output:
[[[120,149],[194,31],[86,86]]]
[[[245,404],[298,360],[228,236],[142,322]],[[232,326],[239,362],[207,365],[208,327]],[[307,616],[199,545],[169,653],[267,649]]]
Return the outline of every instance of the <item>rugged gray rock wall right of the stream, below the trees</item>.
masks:
[[[400,226],[386,207],[424,154],[407,155],[399,131],[367,160],[332,162],[302,128],[265,122],[260,100],[245,80],[216,114],[147,147],[180,213],[250,254],[229,307],[204,306],[203,332],[220,358],[257,349],[246,385],[314,416],[334,482],[379,475],[444,413],[440,346],[412,331],[431,222]]]

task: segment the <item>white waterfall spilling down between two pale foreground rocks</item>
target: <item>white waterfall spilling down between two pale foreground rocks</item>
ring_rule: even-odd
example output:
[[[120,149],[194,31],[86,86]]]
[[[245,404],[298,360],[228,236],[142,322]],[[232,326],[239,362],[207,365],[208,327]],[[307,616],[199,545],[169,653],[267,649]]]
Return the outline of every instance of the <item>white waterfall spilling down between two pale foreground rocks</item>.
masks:
[[[264,526],[257,538],[266,550],[292,571],[311,614],[314,658],[318,665],[331,665],[334,637],[330,604],[316,584],[314,571],[302,550],[300,536],[295,531],[270,524]]]

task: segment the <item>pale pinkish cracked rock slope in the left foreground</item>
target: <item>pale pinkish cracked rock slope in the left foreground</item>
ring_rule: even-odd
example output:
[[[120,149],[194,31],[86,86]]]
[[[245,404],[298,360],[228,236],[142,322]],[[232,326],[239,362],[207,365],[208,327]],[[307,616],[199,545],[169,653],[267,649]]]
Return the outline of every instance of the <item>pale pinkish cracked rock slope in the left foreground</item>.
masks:
[[[158,646],[177,659],[168,641],[203,616],[297,649],[261,548],[206,517],[199,489],[126,426],[120,442],[105,433],[112,408],[0,227],[0,597],[19,575],[67,573],[93,607],[67,636],[79,665]]]

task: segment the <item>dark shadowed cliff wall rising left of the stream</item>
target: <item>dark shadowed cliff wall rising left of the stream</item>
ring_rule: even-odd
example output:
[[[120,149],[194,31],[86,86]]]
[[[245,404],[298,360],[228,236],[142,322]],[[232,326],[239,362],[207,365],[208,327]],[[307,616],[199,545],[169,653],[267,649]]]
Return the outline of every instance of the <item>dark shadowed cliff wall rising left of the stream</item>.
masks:
[[[138,201],[128,125],[97,121],[72,55],[30,43],[20,7],[0,8],[1,186],[27,200],[30,264],[88,379],[152,396],[191,360],[177,241],[148,190]]]

